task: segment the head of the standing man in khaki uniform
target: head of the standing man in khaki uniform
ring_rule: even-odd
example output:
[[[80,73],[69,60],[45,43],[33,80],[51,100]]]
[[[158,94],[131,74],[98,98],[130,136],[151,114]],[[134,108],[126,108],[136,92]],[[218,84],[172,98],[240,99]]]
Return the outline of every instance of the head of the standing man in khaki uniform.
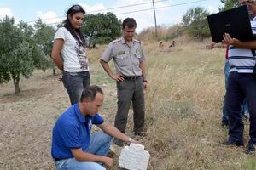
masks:
[[[126,18],[123,21],[123,37],[125,39],[125,42],[131,42],[135,34],[136,27],[136,20],[134,20],[133,18]]]

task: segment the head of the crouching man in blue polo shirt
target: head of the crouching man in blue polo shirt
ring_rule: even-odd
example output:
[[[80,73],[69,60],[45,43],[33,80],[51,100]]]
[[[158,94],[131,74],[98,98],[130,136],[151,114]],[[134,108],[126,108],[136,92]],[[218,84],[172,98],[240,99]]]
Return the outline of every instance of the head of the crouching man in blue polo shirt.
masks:
[[[84,115],[95,116],[96,112],[101,111],[103,95],[102,88],[98,86],[84,88],[80,99],[81,112]]]

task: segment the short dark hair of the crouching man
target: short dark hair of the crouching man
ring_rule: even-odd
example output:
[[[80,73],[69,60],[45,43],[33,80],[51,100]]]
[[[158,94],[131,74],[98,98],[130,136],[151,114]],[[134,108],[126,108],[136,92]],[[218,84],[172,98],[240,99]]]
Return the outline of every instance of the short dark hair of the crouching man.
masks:
[[[89,99],[90,101],[93,101],[97,93],[104,95],[102,88],[98,86],[90,86],[88,88],[84,88],[80,102],[82,102],[84,99]]]

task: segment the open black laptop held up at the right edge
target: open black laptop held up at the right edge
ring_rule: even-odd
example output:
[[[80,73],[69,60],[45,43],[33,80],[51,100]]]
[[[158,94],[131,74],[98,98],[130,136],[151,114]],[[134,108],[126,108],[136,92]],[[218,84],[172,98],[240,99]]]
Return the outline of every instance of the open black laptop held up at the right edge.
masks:
[[[253,36],[247,5],[232,8],[207,16],[213,42],[221,42],[224,33],[244,41],[256,39]]]

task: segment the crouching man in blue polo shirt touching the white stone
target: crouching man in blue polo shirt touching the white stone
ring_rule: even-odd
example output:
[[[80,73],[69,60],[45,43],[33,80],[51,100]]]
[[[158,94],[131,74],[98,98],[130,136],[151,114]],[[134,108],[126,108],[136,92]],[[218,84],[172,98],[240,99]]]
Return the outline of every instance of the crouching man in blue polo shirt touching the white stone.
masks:
[[[101,88],[85,88],[79,104],[69,107],[55,122],[51,155],[57,169],[103,170],[102,164],[113,166],[113,159],[107,156],[112,137],[128,144],[137,143],[104,122],[98,114],[103,99]],[[103,132],[90,134],[93,124]]]

